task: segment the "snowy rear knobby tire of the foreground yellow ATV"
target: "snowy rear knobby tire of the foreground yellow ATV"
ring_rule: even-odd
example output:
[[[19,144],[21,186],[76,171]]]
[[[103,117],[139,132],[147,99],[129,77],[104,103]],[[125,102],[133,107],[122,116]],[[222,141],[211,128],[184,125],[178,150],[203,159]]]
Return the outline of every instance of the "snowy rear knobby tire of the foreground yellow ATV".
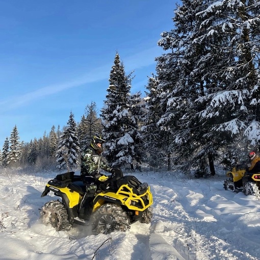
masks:
[[[46,226],[53,226],[57,231],[69,230],[71,224],[68,220],[67,210],[59,200],[45,203],[40,211],[40,220]]]

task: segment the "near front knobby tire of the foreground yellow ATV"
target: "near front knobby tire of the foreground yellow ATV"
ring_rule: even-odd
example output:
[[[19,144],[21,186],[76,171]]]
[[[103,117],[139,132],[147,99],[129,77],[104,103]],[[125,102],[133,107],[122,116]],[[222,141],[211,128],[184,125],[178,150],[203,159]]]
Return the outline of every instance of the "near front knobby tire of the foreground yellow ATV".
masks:
[[[92,230],[99,233],[109,234],[113,231],[126,231],[130,228],[130,219],[122,207],[118,204],[107,203],[99,207],[92,215]]]

